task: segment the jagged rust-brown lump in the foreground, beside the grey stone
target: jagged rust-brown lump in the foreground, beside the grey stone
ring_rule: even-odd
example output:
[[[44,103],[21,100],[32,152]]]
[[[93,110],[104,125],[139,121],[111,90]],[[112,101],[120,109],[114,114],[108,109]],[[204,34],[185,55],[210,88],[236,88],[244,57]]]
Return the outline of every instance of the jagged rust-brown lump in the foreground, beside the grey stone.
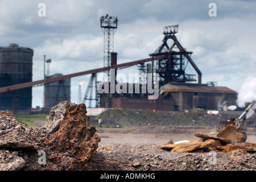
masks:
[[[59,161],[63,169],[89,169],[86,162],[93,159],[100,137],[95,127],[86,127],[85,104],[71,105],[63,114],[60,129],[45,141],[52,151],[53,160]]]

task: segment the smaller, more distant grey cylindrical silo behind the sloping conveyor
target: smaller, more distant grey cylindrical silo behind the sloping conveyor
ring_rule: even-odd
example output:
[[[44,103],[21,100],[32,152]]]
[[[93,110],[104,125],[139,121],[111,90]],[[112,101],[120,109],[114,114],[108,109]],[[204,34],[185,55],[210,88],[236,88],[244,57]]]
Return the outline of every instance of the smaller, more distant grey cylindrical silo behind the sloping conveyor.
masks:
[[[48,78],[63,76],[61,73],[55,73]],[[71,78],[51,82],[44,85],[44,107],[53,107],[61,101],[71,100]]]

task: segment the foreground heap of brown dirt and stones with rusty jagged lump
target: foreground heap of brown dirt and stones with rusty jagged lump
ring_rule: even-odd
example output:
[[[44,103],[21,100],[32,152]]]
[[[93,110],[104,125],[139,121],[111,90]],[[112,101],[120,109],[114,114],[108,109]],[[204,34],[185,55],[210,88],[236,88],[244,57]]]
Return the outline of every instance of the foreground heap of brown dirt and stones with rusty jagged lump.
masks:
[[[86,106],[68,105],[61,118],[59,130],[52,134],[46,127],[31,129],[2,111],[0,170],[91,170],[89,161],[100,137],[94,127],[86,127]]]

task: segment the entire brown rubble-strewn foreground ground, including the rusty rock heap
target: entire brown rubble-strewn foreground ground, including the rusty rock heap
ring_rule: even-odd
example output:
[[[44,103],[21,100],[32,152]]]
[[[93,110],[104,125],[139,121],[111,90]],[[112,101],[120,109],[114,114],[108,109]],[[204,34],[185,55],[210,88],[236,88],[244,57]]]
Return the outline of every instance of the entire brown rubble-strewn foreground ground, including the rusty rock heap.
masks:
[[[199,140],[211,128],[87,127],[86,106],[67,101],[52,108],[42,128],[0,111],[0,171],[255,171],[255,152],[170,152],[162,144]],[[254,128],[247,140],[255,142]]]

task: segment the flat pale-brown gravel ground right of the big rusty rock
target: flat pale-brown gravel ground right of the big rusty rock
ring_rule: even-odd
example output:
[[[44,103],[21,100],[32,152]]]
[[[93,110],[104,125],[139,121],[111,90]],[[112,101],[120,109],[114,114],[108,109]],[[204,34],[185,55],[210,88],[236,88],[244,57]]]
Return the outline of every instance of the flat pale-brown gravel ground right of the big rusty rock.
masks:
[[[96,160],[98,156],[104,155],[111,163],[115,161],[122,164],[121,167],[119,166],[121,170],[248,171],[256,169],[256,155],[246,151],[230,150],[214,154],[210,152],[181,153],[159,148],[170,140],[173,142],[199,140],[193,135],[194,133],[214,135],[217,133],[214,128],[169,128],[169,133],[161,133],[161,130],[166,131],[164,127],[154,128],[155,131],[158,131],[156,133],[151,133],[152,127],[129,129],[100,127],[97,130],[101,142],[97,150]],[[247,142],[255,141],[255,134],[250,133]],[[112,170],[111,167],[109,169]]]

